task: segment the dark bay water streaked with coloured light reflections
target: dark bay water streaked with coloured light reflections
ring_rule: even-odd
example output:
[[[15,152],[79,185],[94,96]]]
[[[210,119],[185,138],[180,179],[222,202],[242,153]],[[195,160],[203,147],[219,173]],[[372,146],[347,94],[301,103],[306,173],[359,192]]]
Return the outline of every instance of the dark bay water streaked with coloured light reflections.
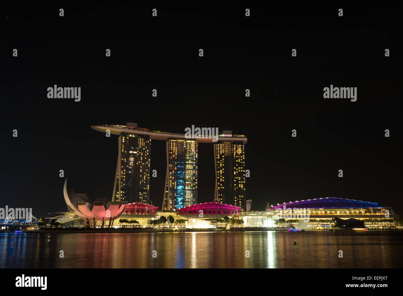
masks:
[[[401,268],[402,244],[401,231],[9,233],[0,234],[0,267]]]

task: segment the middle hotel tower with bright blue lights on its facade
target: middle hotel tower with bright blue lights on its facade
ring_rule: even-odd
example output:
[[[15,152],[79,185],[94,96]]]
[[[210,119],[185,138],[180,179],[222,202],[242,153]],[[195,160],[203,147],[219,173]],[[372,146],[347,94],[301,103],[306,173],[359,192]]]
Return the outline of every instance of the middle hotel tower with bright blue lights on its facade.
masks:
[[[197,203],[197,142],[167,142],[167,185],[163,209],[173,210]]]

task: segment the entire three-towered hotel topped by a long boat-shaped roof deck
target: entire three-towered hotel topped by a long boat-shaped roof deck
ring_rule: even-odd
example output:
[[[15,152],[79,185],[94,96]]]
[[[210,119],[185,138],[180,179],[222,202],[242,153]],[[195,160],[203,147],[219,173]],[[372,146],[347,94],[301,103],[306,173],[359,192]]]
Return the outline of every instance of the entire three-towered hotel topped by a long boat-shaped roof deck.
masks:
[[[149,204],[151,141],[166,141],[166,189],[162,211],[195,205],[197,201],[198,143],[214,147],[216,183],[214,201],[244,208],[245,144],[247,137],[223,131],[205,137],[188,137],[138,128],[136,123],[93,125],[94,130],[119,135],[118,162],[112,201]]]

